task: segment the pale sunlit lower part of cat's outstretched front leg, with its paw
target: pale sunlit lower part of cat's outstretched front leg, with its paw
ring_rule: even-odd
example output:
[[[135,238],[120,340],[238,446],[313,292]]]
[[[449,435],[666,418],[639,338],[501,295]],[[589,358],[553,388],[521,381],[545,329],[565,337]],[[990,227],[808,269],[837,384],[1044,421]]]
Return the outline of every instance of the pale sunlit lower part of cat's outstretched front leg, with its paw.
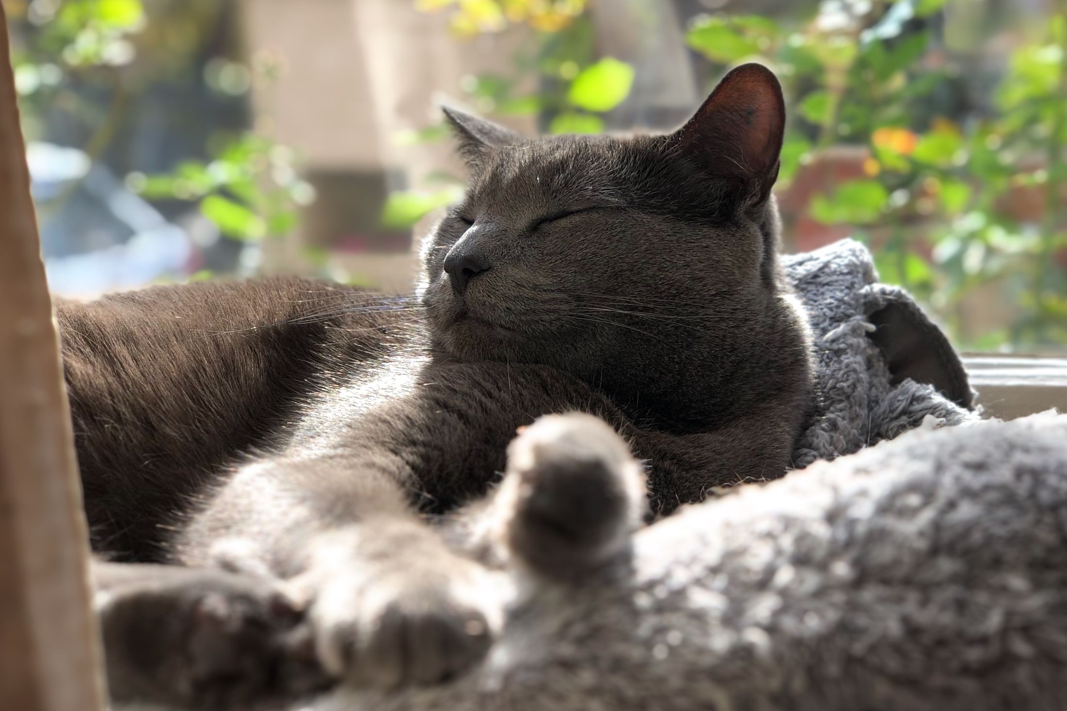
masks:
[[[381,451],[249,465],[186,531],[180,560],[282,579],[334,678],[386,689],[452,678],[501,623],[495,573],[420,520],[401,471]]]

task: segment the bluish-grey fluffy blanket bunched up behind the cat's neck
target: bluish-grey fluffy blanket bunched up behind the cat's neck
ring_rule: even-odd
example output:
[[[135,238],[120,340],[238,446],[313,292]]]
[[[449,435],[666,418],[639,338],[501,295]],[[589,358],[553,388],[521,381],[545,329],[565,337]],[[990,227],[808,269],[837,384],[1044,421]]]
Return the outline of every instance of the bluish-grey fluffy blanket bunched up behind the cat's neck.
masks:
[[[842,240],[784,262],[816,357],[815,410],[794,466],[892,439],[926,416],[942,424],[976,419],[949,341],[907,292],[877,282],[866,247]]]

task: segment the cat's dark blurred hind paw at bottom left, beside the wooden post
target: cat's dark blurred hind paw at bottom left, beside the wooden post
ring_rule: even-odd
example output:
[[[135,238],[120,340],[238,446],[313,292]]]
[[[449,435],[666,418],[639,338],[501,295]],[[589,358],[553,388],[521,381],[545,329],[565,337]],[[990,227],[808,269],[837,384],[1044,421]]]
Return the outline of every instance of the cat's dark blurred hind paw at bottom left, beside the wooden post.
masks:
[[[309,624],[271,581],[100,561],[92,576],[115,704],[229,709],[330,682]]]

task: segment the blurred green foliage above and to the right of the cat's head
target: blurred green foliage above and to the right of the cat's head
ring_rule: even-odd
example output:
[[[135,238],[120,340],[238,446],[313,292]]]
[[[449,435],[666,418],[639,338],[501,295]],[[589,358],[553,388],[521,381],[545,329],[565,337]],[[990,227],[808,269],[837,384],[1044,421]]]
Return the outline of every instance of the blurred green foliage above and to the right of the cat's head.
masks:
[[[805,4],[810,14],[789,19],[698,16],[685,34],[711,67],[708,88],[746,61],[782,79],[791,124],[780,190],[851,146],[858,177],[819,185],[806,208],[812,220],[854,228],[881,278],[928,301],[962,348],[1067,345],[1067,2],[1053,0],[1044,35],[1015,42],[990,106],[967,115],[943,109],[959,70],[946,59],[946,0]],[[501,29],[464,27],[466,34]],[[595,56],[584,12],[537,36],[534,58],[517,58],[511,75],[464,86],[475,107],[537,114],[555,133],[604,130],[602,116],[630,92],[632,68]],[[530,77],[538,91],[516,95]],[[1008,328],[970,325],[965,303],[976,291],[1014,309]]]

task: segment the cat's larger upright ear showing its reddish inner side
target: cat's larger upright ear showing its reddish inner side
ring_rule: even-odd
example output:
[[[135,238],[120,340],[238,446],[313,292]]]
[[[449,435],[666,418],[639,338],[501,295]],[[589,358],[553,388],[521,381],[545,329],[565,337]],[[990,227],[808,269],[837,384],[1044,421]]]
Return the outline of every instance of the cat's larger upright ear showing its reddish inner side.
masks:
[[[762,203],[778,179],[785,131],[785,100],[774,72],[744,64],[715,87],[673,145],[687,160],[735,184],[738,198]]]

